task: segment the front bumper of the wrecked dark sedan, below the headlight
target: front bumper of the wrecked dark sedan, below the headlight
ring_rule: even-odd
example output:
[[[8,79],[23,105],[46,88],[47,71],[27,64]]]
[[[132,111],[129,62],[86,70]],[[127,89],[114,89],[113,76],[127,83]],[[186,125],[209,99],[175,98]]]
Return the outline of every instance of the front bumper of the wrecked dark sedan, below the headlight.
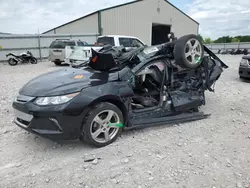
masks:
[[[53,140],[77,139],[81,135],[83,112],[67,110],[67,104],[39,107],[31,101],[12,104],[14,123],[22,129]]]

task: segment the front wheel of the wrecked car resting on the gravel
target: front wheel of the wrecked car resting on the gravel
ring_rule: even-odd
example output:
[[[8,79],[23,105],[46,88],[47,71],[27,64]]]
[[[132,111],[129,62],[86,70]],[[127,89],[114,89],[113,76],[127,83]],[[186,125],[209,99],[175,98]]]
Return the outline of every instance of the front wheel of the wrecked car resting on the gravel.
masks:
[[[117,123],[117,124],[120,124],[122,126],[115,126],[113,128],[112,127],[109,128],[109,126],[105,125],[105,123],[106,124],[108,123],[105,121],[109,121],[108,120],[109,113],[114,114],[114,116],[112,116],[110,122],[115,121],[115,122],[111,122],[111,123]],[[105,118],[106,114],[107,114],[107,117]],[[99,121],[105,122],[105,123],[104,124],[97,123],[95,121],[95,119],[96,118],[98,119],[98,117],[100,118]],[[116,121],[118,121],[118,122],[116,122]],[[86,117],[84,118],[83,126],[82,126],[82,136],[80,137],[80,140],[83,140],[83,141],[87,142],[88,144],[93,145],[95,147],[107,146],[107,145],[111,144],[112,142],[114,142],[117,139],[117,137],[120,135],[120,133],[122,131],[123,123],[124,123],[123,114],[117,106],[115,106],[112,103],[108,103],[108,102],[99,103],[99,104],[93,106],[89,110],[89,112],[87,113]],[[102,128],[102,126],[103,126],[103,128]],[[101,129],[103,132],[100,132]],[[105,131],[105,129],[106,129],[106,131]],[[112,132],[113,132],[113,134],[112,134]],[[98,133],[99,133],[99,135],[97,135]],[[107,134],[105,134],[105,133],[110,134],[109,139],[106,139]],[[97,137],[95,137],[94,135],[97,135]],[[103,138],[101,138],[101,137],[103,137]]]

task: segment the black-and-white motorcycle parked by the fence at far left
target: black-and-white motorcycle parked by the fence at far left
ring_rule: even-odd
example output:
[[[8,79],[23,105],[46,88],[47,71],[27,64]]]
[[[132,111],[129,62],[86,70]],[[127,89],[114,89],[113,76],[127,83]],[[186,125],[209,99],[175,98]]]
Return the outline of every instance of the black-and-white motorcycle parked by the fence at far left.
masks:
[[[32,55],[30,51],[21,53],[20,55],[15,55],[13,53],[6,54],[6,57],[10,57],[8,59],[8,63],[11,66],[17,65],[17,63],[31,63],[37,64],[37,59]]]

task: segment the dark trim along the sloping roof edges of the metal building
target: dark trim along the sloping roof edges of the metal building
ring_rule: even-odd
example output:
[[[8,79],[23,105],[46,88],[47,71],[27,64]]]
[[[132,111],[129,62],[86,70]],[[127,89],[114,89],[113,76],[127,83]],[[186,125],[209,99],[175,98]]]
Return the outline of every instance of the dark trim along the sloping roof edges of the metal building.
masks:
[[[118,8],[118,7],[122,7],[122,6],[126,6],[126,5],[130,5],[130,4],[133,4],[133,3],[138,3],[138,2],[141,2],[141,1],[143,1],[143,0],[135,0],[135,1],[128,2],[128,3],[124,3],[124,4],[120,4],[120,5],[115,5],[115,6],[108,7],[108,8],[104,8],[104,9],[100,9],[100,10],[97,10],[97,11],[92,12],[92,13],[90,13],[90,14],[87,14],[87,15],[85,15],[85,16],[83,16],[83,17],[80,17],[80,18],[77,18],[77,19],[72,20],[72,21],[70,21],[70,22],[67,22],[67,23],[65,23],[65,24],[63,24],[63,25],[60,25],[60,26],[58,26],[58,27],[55,27],[55,28],[50,29],[50,30],[48,30],[48,31],[45,31],[45,32],[42,33],[42,34],[45,34],[45,33],[47,33],[47,32],[53,31],[53,30],[55,30],[55,29],[58,29],[58,28],[60,28],[60,27],[63,27],[63,26],[65,26],[65,25],[68,25],[68,24],[70,24],[70,23],[76,22],[76,21],[81,20],[81,19],[83,19],[83,18],[92,16],[92,15],[94,15],[94,14],[96,14],[96,13],[100,13],[100,12],[103,12],[103,11],[106,11],[106,10],[110,10],[110,9],[114,9],[114,8]],[[190,18],[191,20],[193,20],[195,23],[199,24],[199,22],[197,22],[196,20],[194,20],[193,18],[191,18],[190,16],[188,16],[186,13],[184,13],[184,12],[181,11],[179,8],[177,8],[176,6],[174,6],[174,5],[173,5],[172,3],[170,3],[168,0],[164,0],[164,1],[165,1],[166,3],[168,3],[169,5],[171,5],[172,7],[174,7],[175,9],[177,9],[179,12],[181,12],[181,13],[184,14],[185,16],[187,16],[188,18]]]

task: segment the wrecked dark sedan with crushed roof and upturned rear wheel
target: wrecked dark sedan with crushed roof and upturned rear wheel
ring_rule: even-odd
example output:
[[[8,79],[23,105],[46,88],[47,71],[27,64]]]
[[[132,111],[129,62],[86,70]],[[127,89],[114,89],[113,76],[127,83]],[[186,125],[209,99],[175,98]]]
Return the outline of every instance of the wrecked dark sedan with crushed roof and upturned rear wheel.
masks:
[[[104,46],[75,68],[24,85],[13,102],[15,123],[51,139],[106,146],[122,130],[206,118],[204,93],[224,68],[196,35],[131,51]]]

